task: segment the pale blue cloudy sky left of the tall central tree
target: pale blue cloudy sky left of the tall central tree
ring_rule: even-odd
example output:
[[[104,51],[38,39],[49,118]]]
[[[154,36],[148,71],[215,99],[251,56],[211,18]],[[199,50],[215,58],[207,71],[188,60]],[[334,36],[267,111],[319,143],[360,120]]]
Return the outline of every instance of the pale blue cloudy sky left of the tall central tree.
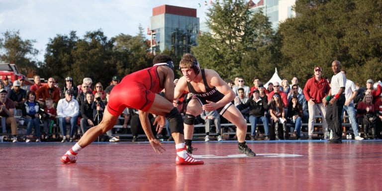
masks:
[[[211,0],[0,0],[0,38],[5,31],[19,31],[22,40],[36,40],[40,54],[32,57],[44,61],[49,39],[76,31],[82,38],[88,31],[101,29],[108,39],[118,34],[135,36],[138,27],[147,31],[154,7],[168,4],[196,9],[199,21]],[[212,0],[214,2],[215,0]]]

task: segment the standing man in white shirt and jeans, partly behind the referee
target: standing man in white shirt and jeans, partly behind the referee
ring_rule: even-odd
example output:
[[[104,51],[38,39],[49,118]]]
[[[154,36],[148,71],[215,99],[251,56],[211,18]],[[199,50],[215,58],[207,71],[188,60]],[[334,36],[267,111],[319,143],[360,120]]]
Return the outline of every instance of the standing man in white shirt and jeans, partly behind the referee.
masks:
[[[341,70],[341,73],[346,76],[345,70]],[[354,139],[357,141],[362,141],[362,140],[364,140],[364,138],[362,138],[360,136],[360,134],[358,134],[358,124],[356,121],[356,111],[354,109],[353,99],[356,96],[357,96],[356,85],[354,84],[353,81],[346,79],[346,85],[345,85],[345,98],[346,98],[346,100],[345,100],[344,108],[342,109],[342,113],[344,113],[344,110],[346,110],[346,112],[349,115],[349,121],[352,124],[352,129],[354,132]],[[343,117],[341,117],[341,119],[342,118]]]

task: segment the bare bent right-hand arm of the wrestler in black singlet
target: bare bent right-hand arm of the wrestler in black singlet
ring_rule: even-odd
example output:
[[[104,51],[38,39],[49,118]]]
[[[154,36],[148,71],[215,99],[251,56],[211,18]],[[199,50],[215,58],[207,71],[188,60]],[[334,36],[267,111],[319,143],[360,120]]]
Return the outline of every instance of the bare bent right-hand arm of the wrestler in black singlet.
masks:
[[[210,79],[209,81],[207,80],[208,85],[210,85],[210,87],[215,87],[217,91],[224,95],[222,99],[216,102],[217,107],[215,109],[223,107],[227,103],[231,102],[235,98],[235,93],[231,88],[229,88],[228,84],[224,82],[224,80],[221,79],[219,74],[217,74],[214,70],[205,69],[205,71],[207,79]]]

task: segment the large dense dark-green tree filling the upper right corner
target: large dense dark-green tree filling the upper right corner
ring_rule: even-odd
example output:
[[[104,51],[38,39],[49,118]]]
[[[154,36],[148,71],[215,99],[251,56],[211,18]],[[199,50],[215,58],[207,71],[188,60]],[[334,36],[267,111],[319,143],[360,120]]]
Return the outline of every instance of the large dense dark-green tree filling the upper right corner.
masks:
[[[298,16],[279,27],[287,61],[282,74],[307,79],[321,66],[331,77],[331,62],[339,60],[354,82],[382,78],[381,1],[298,0],[294,9]]]

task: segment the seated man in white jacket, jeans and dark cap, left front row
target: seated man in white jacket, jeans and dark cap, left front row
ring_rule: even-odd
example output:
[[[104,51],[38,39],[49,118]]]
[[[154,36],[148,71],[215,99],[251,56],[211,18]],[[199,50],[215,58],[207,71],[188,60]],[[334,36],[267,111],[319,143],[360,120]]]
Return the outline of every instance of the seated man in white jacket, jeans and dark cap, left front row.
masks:
[[[77,129],[77,119],[80,111],[80,106],[76,99],[73,99],[73,91],[67,90],[65,98],[62,98],[57,103],[57,116],[63,139],[61,142],[67,141],[66,124],[70,123],[70,142],[73,142],[74,133]]]

